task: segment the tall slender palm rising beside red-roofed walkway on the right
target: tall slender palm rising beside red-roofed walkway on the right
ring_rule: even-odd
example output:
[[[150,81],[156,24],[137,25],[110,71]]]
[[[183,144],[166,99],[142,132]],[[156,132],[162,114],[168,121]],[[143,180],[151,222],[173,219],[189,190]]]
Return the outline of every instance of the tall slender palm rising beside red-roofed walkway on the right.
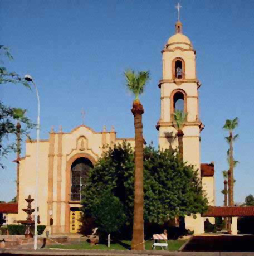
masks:
[[[229,170],[228,170],[228,205],[234,206],[234,167],[238,163],[233,158],[233,142],[238,138],[238,134],[233,136],[233,130],[238,126],[239,119],[238,117],[230,120],[227,119],[226,123],[223,126],[223,129],[229,131],[229,136],[225,137],[226,141],[229,144],[229,150],[227,152],[228,161],[229,161]],[[231,218],[228,218],[228,232],[231,234]]]

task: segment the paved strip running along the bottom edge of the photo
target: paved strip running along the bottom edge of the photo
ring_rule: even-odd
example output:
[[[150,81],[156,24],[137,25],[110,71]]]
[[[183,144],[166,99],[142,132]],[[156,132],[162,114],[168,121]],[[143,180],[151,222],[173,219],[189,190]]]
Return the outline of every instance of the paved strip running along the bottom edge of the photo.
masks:
[[[12,250],[0,249],[0,255],[63,255],[63,256],[254,256],[254,252],[168,252],[166,250]]]

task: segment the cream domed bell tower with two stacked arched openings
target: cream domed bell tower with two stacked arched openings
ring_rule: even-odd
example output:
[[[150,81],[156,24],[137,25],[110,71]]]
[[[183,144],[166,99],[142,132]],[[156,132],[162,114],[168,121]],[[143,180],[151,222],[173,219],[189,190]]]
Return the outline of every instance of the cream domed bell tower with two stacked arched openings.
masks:
[[[160,148],[178,147],[174,112],[187,113],[183,127],[183,159],[200,169],[200,132],[198,89],[201,83],[196,73],[196,51],[183,35],[183,25],[175,23],[175,34],[162,50],[162,80],[160,88],[160,119],[157,123]]]

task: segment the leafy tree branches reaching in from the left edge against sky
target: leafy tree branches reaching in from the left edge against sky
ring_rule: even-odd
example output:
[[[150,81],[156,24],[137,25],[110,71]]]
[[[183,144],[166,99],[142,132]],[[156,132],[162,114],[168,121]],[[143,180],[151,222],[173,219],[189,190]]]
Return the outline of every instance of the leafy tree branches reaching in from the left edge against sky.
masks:
[[[0,62],[3,63],[4,57],[13,60],[13,56],[6,46],[0,45]],[[15,72],[8,71],[6,67],[0,67],[0,86],[3,84],[21,84],[30,88],[27,81]],[[16,143],[9,142],[9,136],[17,133],[16,123],[22,123],[21,134],[28,136],[29,131],[35,127],[31,120],[25,115],[26,110],[21,108],[14,108],[5,105],[0,100],[0,158],[6,157],[11,151],[17,151]],[[0,167],[4,168],[0,160]]]

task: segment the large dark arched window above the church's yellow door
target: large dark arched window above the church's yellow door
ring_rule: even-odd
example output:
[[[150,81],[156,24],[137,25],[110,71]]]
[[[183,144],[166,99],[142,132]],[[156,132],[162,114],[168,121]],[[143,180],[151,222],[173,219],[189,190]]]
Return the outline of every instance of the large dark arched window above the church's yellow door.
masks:
[[[85,158],[77,158],[71,165],[71,201],[81,200],[82,187],[86,185],[92,162]]]

